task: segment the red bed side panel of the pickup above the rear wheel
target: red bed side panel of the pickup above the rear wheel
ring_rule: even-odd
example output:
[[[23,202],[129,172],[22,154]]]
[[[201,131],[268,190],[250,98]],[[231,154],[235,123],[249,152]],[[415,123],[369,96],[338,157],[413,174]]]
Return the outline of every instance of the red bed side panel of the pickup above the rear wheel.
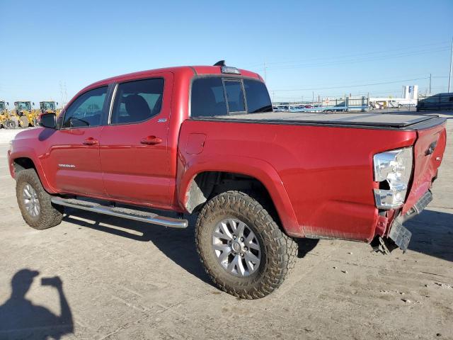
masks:
[[[200,133],[206,135],[202,151],[188,154],[188,135]],[[368,242],[378,218],[372,156],[413,145],[415,137],[415,132],[396,130],[185,120],[179,200],[188,179],[200,171],[255,175],[292,236]],[[256,169],[253,164],[268,165]]]

